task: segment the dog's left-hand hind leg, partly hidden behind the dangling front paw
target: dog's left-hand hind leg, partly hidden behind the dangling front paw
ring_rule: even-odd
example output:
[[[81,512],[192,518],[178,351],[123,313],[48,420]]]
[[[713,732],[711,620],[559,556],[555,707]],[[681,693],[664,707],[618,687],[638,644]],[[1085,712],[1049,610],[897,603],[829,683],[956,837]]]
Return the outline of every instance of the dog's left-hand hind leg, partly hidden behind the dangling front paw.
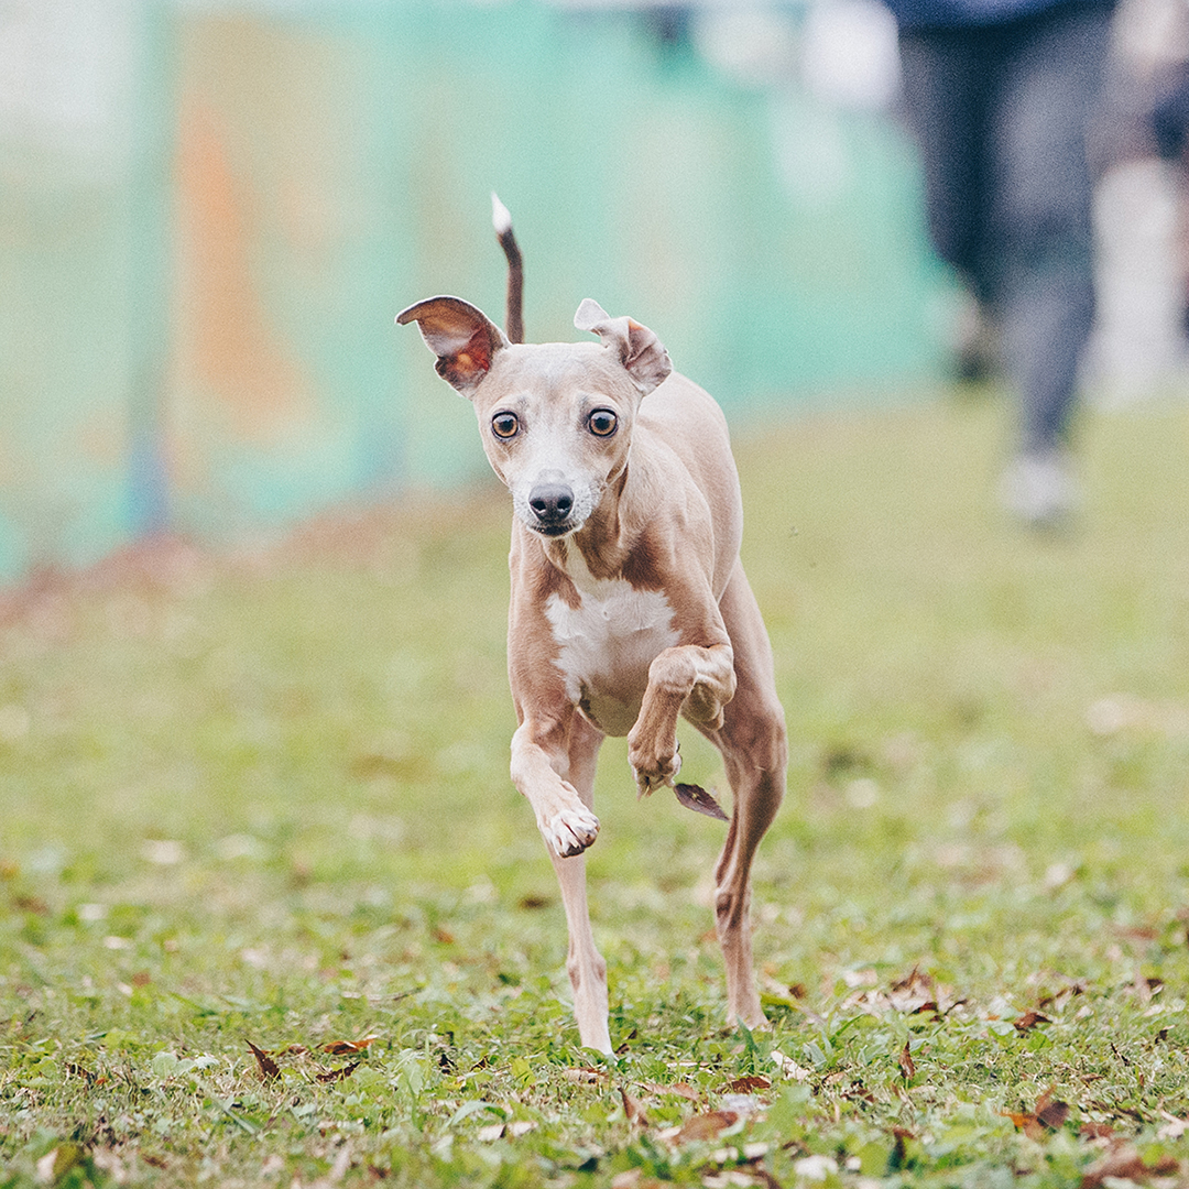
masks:
[[[603,736],[580,715],[570,728],[570,769],[566,780],[577,789],[587,809],[594,805],[594,765]],[[590,912],[586,905],[586,855],[560,858],[549,849],[553,869],[561,886],[561,902],[570,931],[566,973],[574,992],[574,1015],[578,1034],[587,1049],[611,1052],[608,1031],[606,962],[594,945]]]

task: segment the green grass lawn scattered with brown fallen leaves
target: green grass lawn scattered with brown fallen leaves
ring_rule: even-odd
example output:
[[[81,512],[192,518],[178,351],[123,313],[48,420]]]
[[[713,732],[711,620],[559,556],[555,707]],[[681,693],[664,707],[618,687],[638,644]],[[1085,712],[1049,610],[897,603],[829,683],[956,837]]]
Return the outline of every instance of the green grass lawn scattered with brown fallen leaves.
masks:
[[[508,779],[502,490],[11,599],[0,1185],[1189,1176],[1189,408],[1087,419],[1064,537],[996,511],[1004,420],[736,434],[792,740],[774,1026],[724,1026],[722,826],[611,741],[614,1064]]]

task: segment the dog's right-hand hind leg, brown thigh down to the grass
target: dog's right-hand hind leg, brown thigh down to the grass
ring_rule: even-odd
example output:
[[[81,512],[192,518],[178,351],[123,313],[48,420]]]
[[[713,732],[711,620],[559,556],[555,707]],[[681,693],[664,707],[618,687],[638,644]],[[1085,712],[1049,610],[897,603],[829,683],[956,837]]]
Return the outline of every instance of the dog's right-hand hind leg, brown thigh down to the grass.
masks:
[[[751,861],[785,795],[788,743],[768,635],[738,564],[719,605],[737,684],[722,728],[706,731],[723,754],[735,803],[715,869],[715,925],[726,964],[728,1015],[754,1028],[767,1021],[751,964]]]

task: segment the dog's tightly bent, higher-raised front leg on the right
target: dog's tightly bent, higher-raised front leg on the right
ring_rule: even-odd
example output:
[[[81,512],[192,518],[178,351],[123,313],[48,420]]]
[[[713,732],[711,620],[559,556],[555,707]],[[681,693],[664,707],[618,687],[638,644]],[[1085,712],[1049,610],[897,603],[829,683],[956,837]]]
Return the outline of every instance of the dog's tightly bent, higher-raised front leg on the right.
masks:
[[[677,751],[680,715],[705,730],[717,730],[723,725],[723,706],[734,696],[730,644],[675,644],[656,656],[648,668],[640,715],[628,734],[628,762],[641,795],[668,784],[681,768]]]

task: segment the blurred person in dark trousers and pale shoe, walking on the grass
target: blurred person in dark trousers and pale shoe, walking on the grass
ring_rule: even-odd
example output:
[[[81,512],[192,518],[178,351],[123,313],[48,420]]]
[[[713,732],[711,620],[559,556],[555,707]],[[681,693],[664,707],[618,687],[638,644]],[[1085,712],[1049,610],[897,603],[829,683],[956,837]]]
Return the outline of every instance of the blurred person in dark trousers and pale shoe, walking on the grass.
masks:
[[[1094,321],[1087,161],[1113,0],[885,0],[929,231],[998,338],[1020,398],[1005,507],[1055,527],[1076,509],[1069,434]]]

